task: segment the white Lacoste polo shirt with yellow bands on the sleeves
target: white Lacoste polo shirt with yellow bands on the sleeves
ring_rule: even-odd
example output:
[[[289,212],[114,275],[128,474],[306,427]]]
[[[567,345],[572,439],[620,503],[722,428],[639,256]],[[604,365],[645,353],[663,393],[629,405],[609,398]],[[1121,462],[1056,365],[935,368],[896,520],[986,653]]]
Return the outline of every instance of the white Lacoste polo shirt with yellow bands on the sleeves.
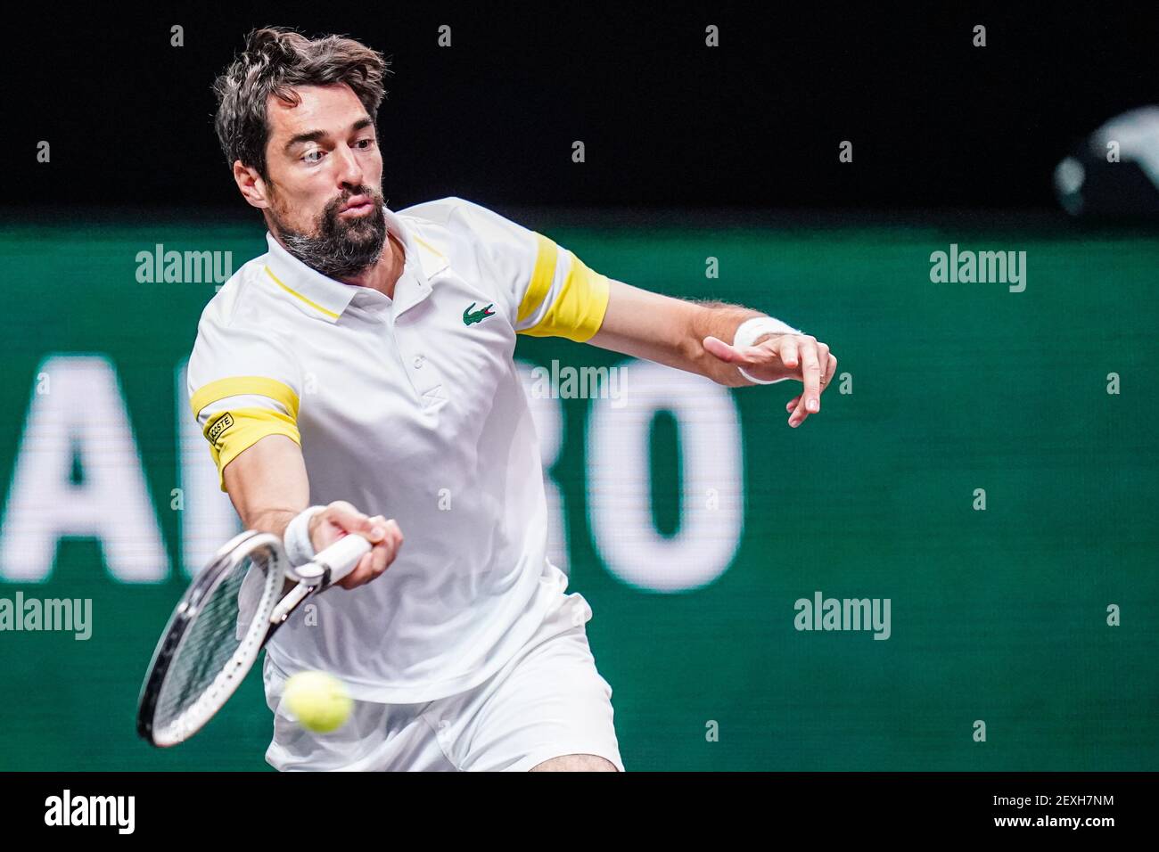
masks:
[[[406,249],[393,300],[267,235],[269,252],[206,305],[188,376],[219,471],[286,435],[311,503],[399,522],[387,571],[314,598],[316,619],[297,613],[269,654],[360,700],[410,704],[487,679],[566,583],[546,556],[539,442],[512,354],[517,333],[591,337],[608,281],[461,198],[384,213]]]

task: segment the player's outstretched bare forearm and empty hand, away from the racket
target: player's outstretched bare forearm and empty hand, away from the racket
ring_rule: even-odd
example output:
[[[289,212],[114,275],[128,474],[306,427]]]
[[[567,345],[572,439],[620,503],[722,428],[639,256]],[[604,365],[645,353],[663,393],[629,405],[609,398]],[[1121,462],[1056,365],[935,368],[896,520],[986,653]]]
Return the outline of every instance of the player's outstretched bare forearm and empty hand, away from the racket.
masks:
[[[765,318],[748,326],[749,342],[737,341],[742,323],[764,315],[721,301],[685,301],[608,279],[604,320],[588,343],[636,358],[705,376],[729,387],[796,379],[804,385],[786,410],[797,427],[821,410],[821,394],[837,371],[829,345]],[[736,343],[736,345],[734,345]],[[739,369],[738,369],[739,367]]]

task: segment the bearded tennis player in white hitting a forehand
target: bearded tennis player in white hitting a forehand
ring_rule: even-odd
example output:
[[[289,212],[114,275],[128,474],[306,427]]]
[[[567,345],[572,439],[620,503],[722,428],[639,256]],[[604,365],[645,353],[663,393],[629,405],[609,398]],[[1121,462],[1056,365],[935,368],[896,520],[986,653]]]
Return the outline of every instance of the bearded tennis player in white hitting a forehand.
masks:
[[[612,281],[471,202],[389,211],[374,122],[384,68],[351,39],[262,29],[214,85],[217,132],[269,252],[202,315],[194,416],[245,525],[284,536],[292,561],[347,533],[373,542],[347,591],[315,598],[268,648],[267,759],[622,771],[591,609],[546,556],[516,334],[729,386],[795,378],[794,427],[819,410],[837,361],[753,311]],[[286,677],[308,669],[355,699],[334,734],[282,707]]]

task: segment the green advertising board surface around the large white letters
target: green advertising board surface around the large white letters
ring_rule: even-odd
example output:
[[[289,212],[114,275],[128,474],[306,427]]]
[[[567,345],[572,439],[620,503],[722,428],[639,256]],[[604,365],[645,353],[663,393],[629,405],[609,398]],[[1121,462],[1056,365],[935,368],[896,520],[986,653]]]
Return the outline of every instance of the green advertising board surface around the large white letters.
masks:
[[[852,393],[834,387],[796,430],[788,383],[732,392],[744,536],[719,580],[672,595],[629,588],[600,565],[585,507],[591,403],[563,401],[553,474],[570,589],[595,611],[589,638],[627,769],[1159,769],[1154,231],[1016,217],[523,221],[610,276],[781,316],[830,343],[852,377]],[[38,364],[104,354],[175,566],[168,582],[124,584],[99,542],[66,539],[49,582],[0,580],[2,597],[23,589],[94,607],[87,642],[0,632],[2,770],[268,769],[272,722],[256,676],[183,747],[155,750],[134,734],[145,667],[187,582],[169,509],[173,371],[213,294],[211,284],[137,283],[136,254],[156,242],[232,250],[235,269],[265,248],[253,223],[192,218],[0,231],[5,503]],[[931,252],[952,242],[1027,252],[1026,291],[931,283]],[[522,340],[518,356],[621,362],[554,340]],[[1107,393],[1110,372],[1118,395]],[[640,498],[671,532],[679,432],[659,417],[653,434],[653,486]],[[986,511],[972,509],[976,488]],[[890,598],[892,636],[795,631],[793,604],[815,590]],[[1109,604],[1122,609],[1118,627],[1106,622]]]

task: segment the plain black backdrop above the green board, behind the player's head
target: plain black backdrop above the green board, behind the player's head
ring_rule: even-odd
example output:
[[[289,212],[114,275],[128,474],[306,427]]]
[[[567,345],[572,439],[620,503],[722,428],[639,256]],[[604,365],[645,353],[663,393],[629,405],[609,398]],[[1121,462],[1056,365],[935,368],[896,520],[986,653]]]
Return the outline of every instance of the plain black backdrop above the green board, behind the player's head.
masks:
[[[1154,5],[374,3],[25,8],[7,21],[0,205],[242,214],[211,83],[254,26],[391,60],[389,205],[1054,206],[1083,134],[1159,102]],[[437,46],[439,24],[453,46]],[[705,46],[705,27],[720,46]],[[987,46],[974,48],[972,28]],[[169,46],[169,27],[185,46]],[[36,162],[51,143],[52,162]],[[586,145],[573,163],[571,143]],[[838,144],[853,141],[853,163]]]

